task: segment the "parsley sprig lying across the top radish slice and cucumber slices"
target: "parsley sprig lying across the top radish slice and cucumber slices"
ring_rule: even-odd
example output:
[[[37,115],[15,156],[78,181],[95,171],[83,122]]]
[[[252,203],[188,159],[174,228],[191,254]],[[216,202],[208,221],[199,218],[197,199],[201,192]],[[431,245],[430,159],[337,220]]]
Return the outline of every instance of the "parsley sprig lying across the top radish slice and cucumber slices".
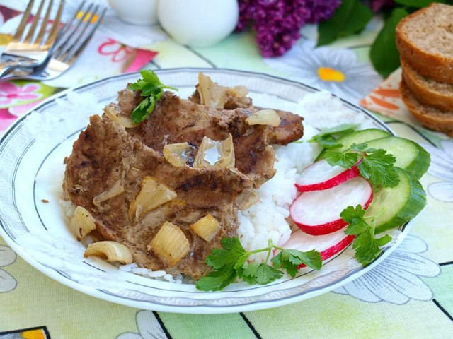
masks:
[[[399,184],[398,172],[394,167],[396,158],[385,150],[368,148],[366,143],[354,143],[343,151],[327,150],[324,159],[331,166],[338,165],[343,168],[357,164],[362,177],[374,186],[395,187]]]

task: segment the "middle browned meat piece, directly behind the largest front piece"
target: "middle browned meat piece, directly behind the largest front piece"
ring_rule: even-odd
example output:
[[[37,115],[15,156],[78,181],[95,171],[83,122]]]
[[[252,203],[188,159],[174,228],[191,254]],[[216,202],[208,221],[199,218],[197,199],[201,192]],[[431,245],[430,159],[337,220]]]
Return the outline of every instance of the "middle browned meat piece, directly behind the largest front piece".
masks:
[[[132,91],[122,92],[118,100],[121,102],[132,95]],[[187,141],[195,145],[194,153],[203,136],[220,141],[231,133],[236,168],[251,178],[255,186],[260,186],[275,174],[275,152],[267,141],[267,126],[246,124],[245,120],[253,112],[253,107],[210,109],[165,92],[149,117],[127,132],[158,152],[162,152],[166,144]],[[122,114],[130,116],[131,112],[122,111]]]

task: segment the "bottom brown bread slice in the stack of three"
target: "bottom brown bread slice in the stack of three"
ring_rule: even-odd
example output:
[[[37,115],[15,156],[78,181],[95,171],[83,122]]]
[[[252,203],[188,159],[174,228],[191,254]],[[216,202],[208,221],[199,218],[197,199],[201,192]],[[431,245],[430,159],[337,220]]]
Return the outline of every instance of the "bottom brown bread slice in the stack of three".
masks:
[[[399,90],[409,112],[411,112],[423,126],[434,131],[446,133],[448,136],[453,136],[453,110],[441,111],[440,109],[420,104],[404,81],[401,81]]]

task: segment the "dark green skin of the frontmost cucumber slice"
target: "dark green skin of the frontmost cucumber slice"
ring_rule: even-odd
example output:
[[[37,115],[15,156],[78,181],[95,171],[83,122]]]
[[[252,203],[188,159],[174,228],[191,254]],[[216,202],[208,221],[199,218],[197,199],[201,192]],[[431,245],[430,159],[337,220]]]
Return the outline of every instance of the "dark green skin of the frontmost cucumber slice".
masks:
[[[383,224],[376,225],[376,228],[374,229],[375,233],[384,232],[386,230],[390,230],[391,228],[403,225],[405,222],[415,218],[415,216],[418,215],[418,213],[420,213],[426,206],[426,192],[418,179],[415,179],[413,175],[403,169],[400,170],[408,177],[409,186],[411,187],[408,201],[406,201],[403,208],[401,208],[401,210],[399,210],[393,218]],[[379,191],[375,194],[379,194]]]

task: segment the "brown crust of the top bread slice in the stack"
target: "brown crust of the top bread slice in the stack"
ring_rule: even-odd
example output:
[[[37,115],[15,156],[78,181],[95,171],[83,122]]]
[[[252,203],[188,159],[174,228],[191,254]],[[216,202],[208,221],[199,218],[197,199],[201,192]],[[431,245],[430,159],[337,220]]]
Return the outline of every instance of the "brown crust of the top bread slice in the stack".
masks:
[[[431,4],[428,8],[406,16],[396,26],[396,47],[401,56],[423,76],[439,81],[440,83],[453,83],[453,58],[444,57],[440,54],[425,52],[408,40],[403,33],[403,26],[408,22],[428,11],[432,6],[442,6],[440,4]],[[447,5],[444,5],[447,6]]]

